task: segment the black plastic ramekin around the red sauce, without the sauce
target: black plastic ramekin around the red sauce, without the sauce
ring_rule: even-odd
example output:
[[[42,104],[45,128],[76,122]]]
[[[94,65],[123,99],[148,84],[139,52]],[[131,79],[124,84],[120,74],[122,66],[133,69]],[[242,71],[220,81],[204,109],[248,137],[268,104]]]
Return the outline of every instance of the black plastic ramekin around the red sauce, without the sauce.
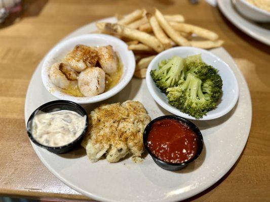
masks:
[[[191,159],[189,159],[186,162],[183,163],[167,163],[164,162],[160,159],[158,159],[155,155],[152,154],[151,150],[149,149],[149,147],[147,146],[147,138],[148,138],[148,134],[152,128],[152,124],[155,123],[156,121],[162,120],[162,119],[173,119],[173,120],[177,120],[177,121],[181,121],[186,123],[198,136],[199,138],[199,147],[197,150],[197,153],[194,155],[194,157],[192,157]],[[146,148],[146,150],[148,151],[149,155],[151,155],[152,159],[155,161],[155,163],[165,169],[165,170],[169,170],[169,171],[177,171],[177,170],[181,170],[182,168],[184,168],[185,166],[187,166],[190,162],[194,161],[195,159],[197,159],[200,154],[202,153],[203,147],[204,147],[204,140],[203,140],[203,136],[201,131],[199,130],[199,128],[192,122],[188,121],[185,118],[179,117],[179,116],[174,116],[174,115],[167,115],[167,116],[161,116],[158,117],[156,119],[153,119],[144,129],[143,132],[143,144],[144,147]]]

